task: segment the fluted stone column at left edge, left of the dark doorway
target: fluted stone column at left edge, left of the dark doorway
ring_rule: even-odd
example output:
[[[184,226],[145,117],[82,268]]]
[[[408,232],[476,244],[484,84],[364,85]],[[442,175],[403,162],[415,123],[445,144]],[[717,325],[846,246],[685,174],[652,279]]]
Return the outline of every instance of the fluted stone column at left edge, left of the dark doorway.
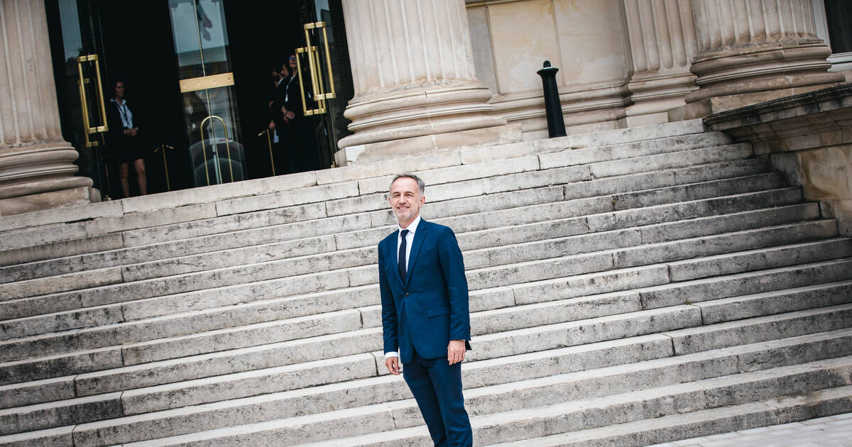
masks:
[[[0,215],[89,203],[62,140],[43,2],[0,0]]]

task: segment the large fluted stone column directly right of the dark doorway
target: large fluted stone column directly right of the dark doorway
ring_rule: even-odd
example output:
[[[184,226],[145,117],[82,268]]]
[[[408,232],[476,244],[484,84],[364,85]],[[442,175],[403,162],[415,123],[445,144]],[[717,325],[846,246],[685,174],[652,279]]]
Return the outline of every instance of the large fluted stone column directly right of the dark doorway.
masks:
[[[355,95],[338,163],[520,140],[490,115],[463,0],[344,0]]]

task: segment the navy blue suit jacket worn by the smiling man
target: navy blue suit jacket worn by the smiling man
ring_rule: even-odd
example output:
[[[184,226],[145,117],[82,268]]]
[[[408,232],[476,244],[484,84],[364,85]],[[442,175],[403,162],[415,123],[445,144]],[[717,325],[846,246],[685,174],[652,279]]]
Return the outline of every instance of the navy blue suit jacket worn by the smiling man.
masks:
[[[422,358],[446,357],[451,340],[470,340],[468,281],[456,235],[421,219],[405,284],[396,262],[398,237],[393,232],[378,244],[384,352],[399,351],[403,364],[412,361],[412,347]]]

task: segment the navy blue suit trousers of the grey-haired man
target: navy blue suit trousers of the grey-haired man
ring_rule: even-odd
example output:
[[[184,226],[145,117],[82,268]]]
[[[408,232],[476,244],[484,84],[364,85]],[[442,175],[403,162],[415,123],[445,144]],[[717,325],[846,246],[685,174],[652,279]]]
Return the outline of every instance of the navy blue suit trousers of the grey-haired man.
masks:
[[[462,364],[446,357],[422,358],[414,351],[402,376],[412,390],[435,447],[470,447],[473,431],[462,395]]]

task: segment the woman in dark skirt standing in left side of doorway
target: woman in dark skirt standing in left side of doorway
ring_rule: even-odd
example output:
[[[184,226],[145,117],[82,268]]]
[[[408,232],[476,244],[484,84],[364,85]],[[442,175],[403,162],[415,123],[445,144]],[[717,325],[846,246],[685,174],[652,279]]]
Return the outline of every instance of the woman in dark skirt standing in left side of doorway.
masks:
[[[124,82],[112,83],[113,97],[107,107],[110,146],[118,159],[118,173],[121,175],[121,189],[124,197],[130,197],[130,163],[136,171],[136,182],[140,195],[147,194],[145,157],[142,152],[139,127],[134,123],[133,112],[124,100]]]

